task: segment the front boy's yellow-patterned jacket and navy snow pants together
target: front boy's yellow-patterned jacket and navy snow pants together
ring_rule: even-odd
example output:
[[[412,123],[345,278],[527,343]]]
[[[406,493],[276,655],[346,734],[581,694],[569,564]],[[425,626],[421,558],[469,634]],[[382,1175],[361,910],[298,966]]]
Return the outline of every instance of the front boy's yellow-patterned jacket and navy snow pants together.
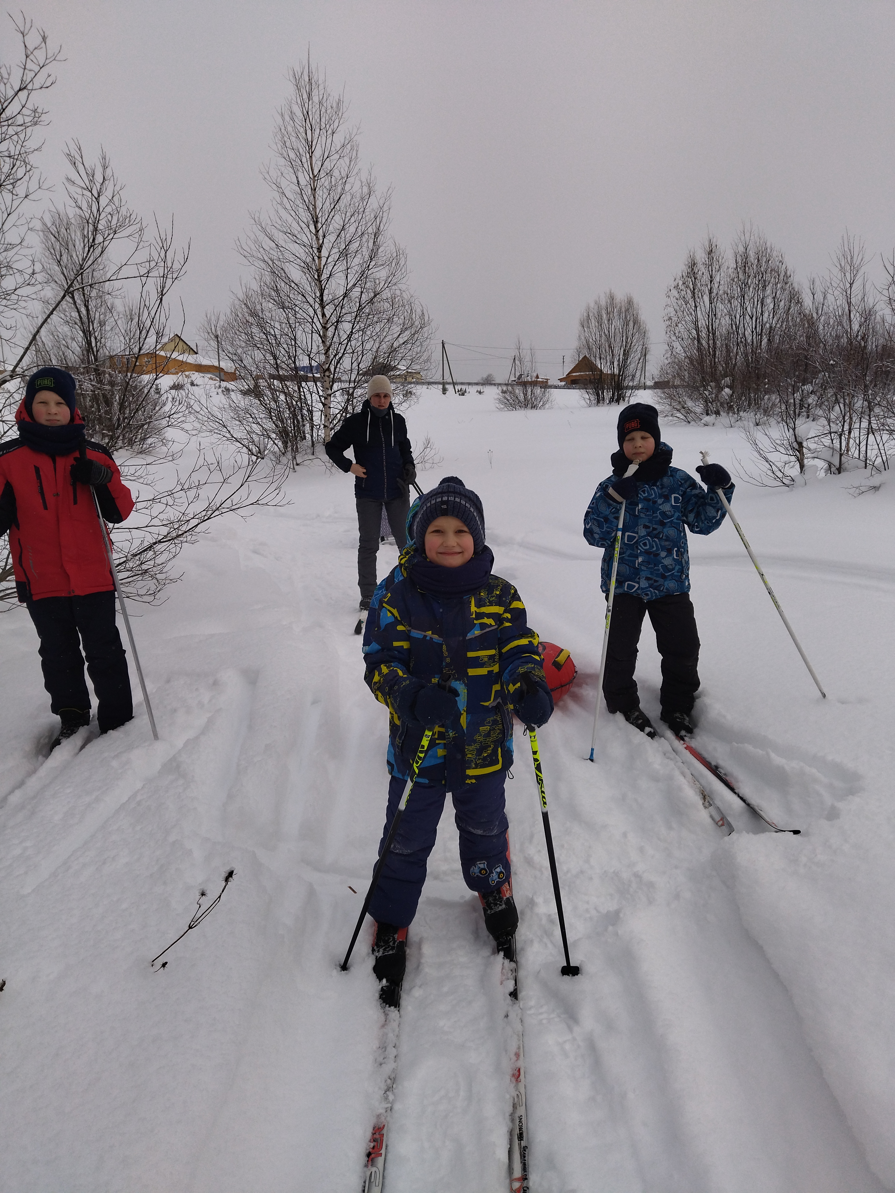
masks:
[[[379,848],[425,733],[413,716],[415,697],[425,685],[449,678],[457,693],[457,715],[432,736],[370,905],[375,920],[400,927],[416,911],[448,791],[453,797],[467,886],[480,892],[508,890],[504,784],[513,760],[511,710],[523,696],[524,672],[549,691],[538,637],[529,629],[513,585],[488,575],[471,594],[437,596],[412,579],[415,557],[411,543],[376,589],[364,632],[365,680],[389,710],[391,783]]]

